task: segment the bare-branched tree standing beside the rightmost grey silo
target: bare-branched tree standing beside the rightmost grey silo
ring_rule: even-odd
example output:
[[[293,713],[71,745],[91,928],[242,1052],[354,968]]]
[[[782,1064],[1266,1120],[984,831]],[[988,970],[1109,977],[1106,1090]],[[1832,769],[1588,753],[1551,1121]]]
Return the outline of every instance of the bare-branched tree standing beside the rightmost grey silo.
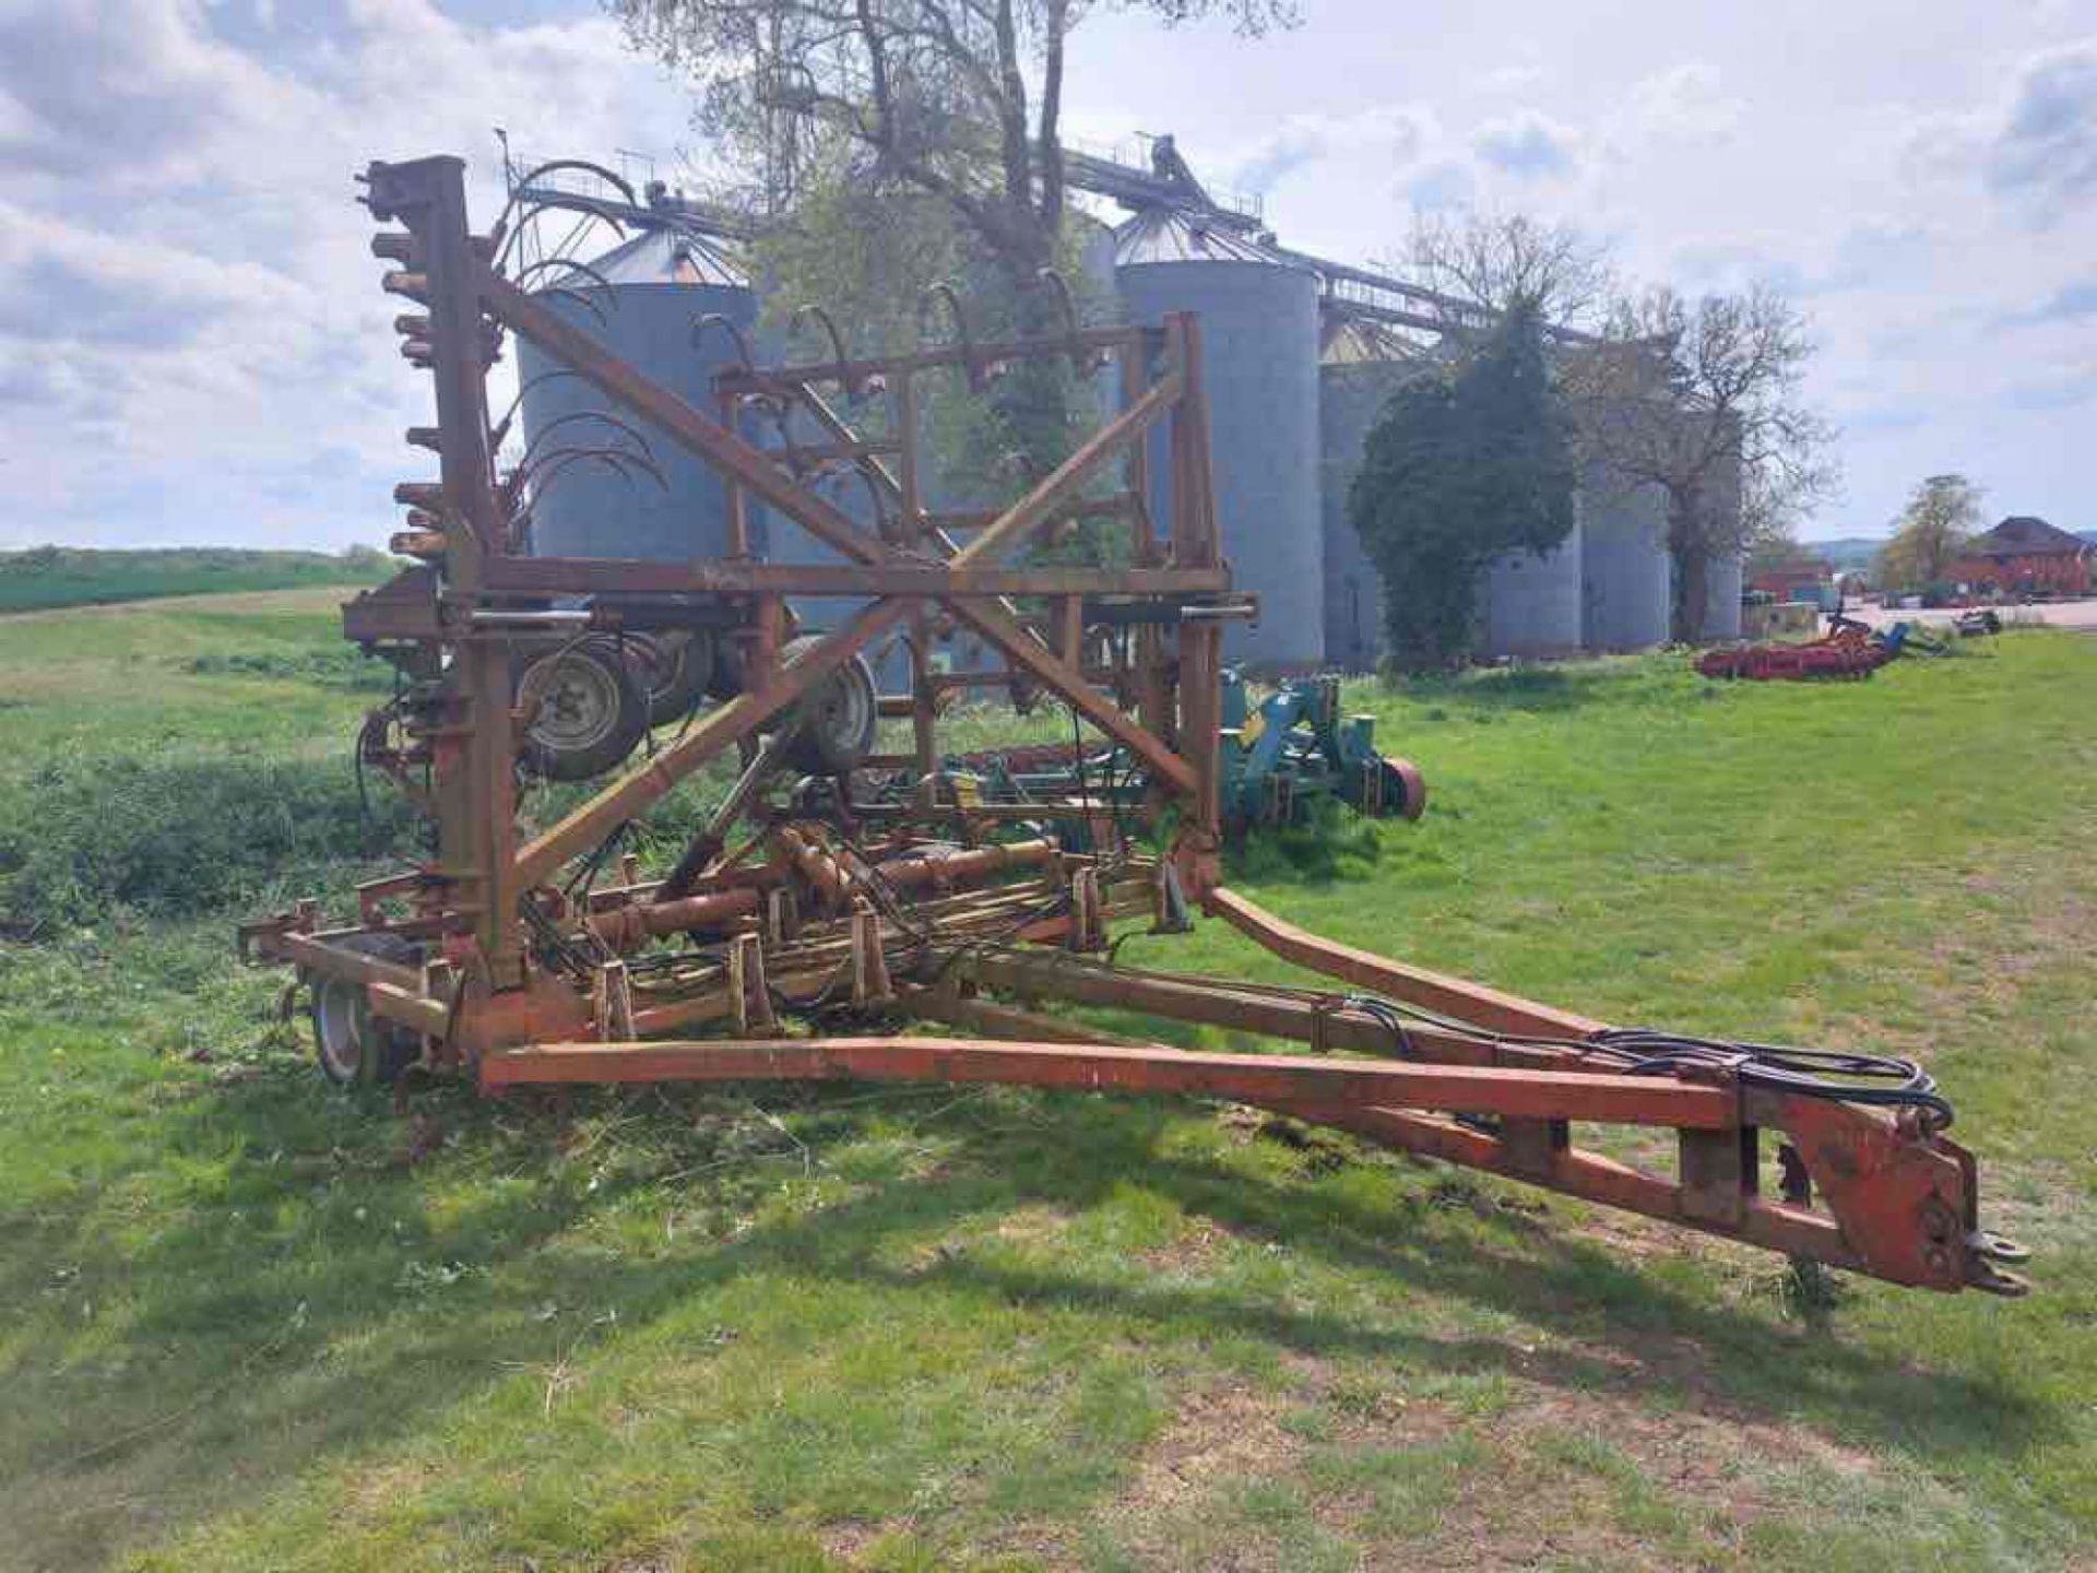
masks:
[[[1667,499],[1673,635],[1703,635],[1711,564],[1747,556],[1839,489],[1835,428],[1803,401],[1812,336],[1770,287],[1619,302],[1569,359],[1583,451]]]

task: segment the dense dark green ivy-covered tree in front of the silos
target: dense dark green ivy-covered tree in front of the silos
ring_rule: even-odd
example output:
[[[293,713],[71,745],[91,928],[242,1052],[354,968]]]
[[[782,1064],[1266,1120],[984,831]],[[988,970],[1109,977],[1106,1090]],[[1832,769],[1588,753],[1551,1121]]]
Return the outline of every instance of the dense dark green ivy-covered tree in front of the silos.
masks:
[[[1508,313],[1453,371],[1399,388],[1346,512],[1384,581],[1392,665],[1462,661],[1485,566],[1573,531],[1573,459],[1535,313]]]

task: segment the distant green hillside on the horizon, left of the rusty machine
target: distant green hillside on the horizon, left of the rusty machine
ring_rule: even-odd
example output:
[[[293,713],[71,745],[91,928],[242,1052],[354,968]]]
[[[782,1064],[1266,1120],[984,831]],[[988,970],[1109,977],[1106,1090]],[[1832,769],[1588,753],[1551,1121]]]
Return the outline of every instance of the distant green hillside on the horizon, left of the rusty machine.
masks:
[[[161,552],[96,552],[40,545],[0,552],[0,612],[48,606],[101,606],[159,596],[212,596],[231,589],[298,589],[302,585],[373,585],[392,560],[369,547],[325,552],[241,552],[180,547]]]

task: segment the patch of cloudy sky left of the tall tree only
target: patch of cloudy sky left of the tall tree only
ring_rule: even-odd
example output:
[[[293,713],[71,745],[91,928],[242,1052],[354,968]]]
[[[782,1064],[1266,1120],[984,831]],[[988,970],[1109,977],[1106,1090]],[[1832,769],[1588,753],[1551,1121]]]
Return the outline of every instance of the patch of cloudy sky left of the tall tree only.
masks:
[[[491,218],[497,124],[585,155],[684,126],[600,15],[489,29],[350,0],[321,40],[247,48],[220,21],[189,0],[0,19],[0,545],[382,541],[392,480],[428,464],[401,445],[428,386],[350,176],[466,153]]]

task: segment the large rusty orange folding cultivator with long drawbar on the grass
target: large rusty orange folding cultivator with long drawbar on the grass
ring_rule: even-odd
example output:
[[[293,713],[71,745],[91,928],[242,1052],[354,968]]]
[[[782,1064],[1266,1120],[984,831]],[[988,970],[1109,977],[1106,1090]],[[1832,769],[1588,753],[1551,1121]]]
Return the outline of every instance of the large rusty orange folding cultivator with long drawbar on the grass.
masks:
[[[732,363],[705,411],[554,310],[549,289],[520,287],[505,224],[468,229],[457,159],[377,164],[367,182],[384,287],[409,302],[403,354],[436,390],[436,424],[409,443],[436,453],[440,480],[398,489],[411,529],[396,547],[424,562],[344,621],[405,675],[365,759],[419,797],[434,854],[365,885],[350,927],[306,904],[243,929],[252,954],[310,988],[333,1076],[413,1061],[491,1093],[862,1078],[1202,1095],[1896,1284],[2022,1292],[1998,1267],[2019,1252],[1980,1227],[1973,1160],[1915,1065],[1613,1028],[1319,940],[1225,887],[1218,650],[1248,598],[1218,550],[1197,321]],[[522,554],[539,482],[499,464],[505,422],[487,396],[507,336],[593,384],[635,438],[652,428],[711,466],[728,554]],[[1118,386],[1118,413],[1013,505],[935,512],[918,476],[925,382],[983,384],[1034,357]],[[847,419],[864,407],[885,411],[879,426]],[[765,447],[753,430],[814,436]],[[866,522],[814,484],[824,466],[866,482]],[[801,531],[830,560],[761,560],[759,508],[774,543]],[[1124,566],[1030,552],[1074,520],[1107,520]],[[956,633],[996,667],[937,663]],[[562,696],[545,663],[644,635],[702,648],[713,703],[526,828],[531,738],[549,705],[589,707],[591,682]],[[908,692],[874,696],[866,656],[891,644]],[[973,791],[952,763],[969,751],[942,747],[969,688],[1088,728],[1063,755],[1076,782]],[[870,751],[872,717],[908,732],[908,751]],[[1088,757],[1109,766],[1086,772]],[[644,879],[623,826],[707,766],[715,812]],[[1334,982],[1116,965],[1118,927],[1197,919]],[[1179,1051],[1095,1032],[1069,1005],[1285,1051]],[[1581,1147],[1598,1124],[1673,1133],[1673,1162],[1652,1172]]]

